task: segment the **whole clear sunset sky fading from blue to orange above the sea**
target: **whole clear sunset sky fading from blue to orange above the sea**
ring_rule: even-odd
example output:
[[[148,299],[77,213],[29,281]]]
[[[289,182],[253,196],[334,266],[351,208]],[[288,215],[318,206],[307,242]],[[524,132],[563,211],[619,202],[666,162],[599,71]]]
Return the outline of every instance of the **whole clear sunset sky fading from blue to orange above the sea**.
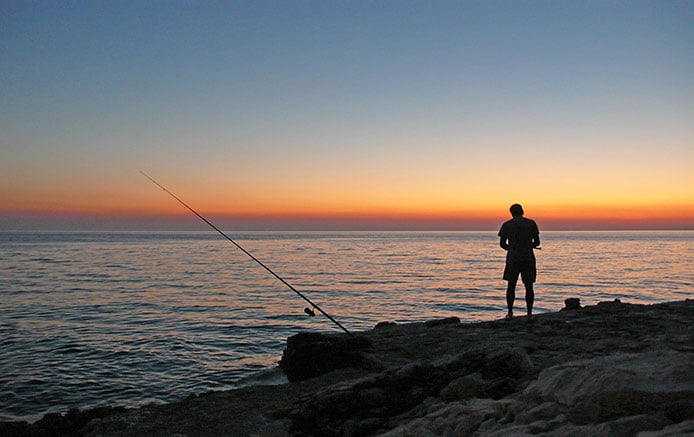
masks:
[[[0,230],[694,228],[694,2],[0,0]]]

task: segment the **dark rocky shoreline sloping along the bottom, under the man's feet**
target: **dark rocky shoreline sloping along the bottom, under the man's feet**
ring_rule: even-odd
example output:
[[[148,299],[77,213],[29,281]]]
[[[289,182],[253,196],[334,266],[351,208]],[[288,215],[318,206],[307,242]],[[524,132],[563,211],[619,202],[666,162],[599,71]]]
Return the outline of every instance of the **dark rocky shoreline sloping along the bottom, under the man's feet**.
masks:
[[[137,409],[47,414],[0,435],[694,435],[694,300],[532,321],[457,318],[287,340],[290,382]]]

